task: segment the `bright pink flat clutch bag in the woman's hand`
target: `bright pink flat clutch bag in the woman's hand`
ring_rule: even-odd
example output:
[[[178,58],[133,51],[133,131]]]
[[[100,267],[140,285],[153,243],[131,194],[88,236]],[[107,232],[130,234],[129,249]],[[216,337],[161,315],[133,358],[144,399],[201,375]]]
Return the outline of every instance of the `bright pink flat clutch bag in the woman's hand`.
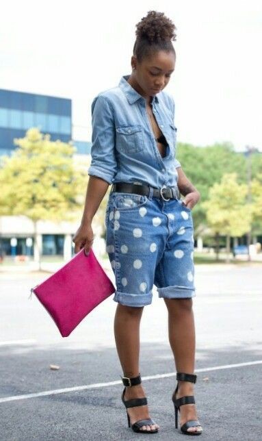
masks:
[[[92,248],[88,255],[82,248],[56,273],[31,288],[31,294],[34,292],[49,312],[62,337],[68,337],[115,290]]]

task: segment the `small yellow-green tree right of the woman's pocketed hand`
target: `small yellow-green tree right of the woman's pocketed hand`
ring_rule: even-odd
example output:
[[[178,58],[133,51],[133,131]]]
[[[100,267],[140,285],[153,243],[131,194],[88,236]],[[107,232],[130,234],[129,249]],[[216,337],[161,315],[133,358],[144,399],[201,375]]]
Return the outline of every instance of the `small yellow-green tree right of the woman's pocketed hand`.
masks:
[[[226,261],[229,261],[230,238],[242,236],[250,230],[252,208],[246,203],[248,188],[237,182],[237,173],[226,173],[220,183],[209,190],[209,199],[202,203],[207,223],[216,240],[226,236]],[[218,259],[218,247],[217,247]]]

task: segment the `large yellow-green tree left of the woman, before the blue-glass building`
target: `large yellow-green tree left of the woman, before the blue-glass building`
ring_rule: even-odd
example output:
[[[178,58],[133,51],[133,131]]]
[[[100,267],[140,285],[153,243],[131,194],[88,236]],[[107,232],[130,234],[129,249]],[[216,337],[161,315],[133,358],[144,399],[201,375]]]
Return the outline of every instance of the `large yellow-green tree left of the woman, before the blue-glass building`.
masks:
[[[81,216],[85,164],[76,165],[76,148],[60,140],[51,141],[36,128],[25,138],[15,139],[12,156],[1,157],[0,215],[27,216],[34,223],[34,257],[40,268],[38,220],[75,220]]]

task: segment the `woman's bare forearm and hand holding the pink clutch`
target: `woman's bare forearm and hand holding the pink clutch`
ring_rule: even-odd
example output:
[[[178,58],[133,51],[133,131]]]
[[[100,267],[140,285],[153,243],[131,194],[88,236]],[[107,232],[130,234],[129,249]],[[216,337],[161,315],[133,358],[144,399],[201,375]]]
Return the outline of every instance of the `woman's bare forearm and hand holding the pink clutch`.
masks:
[[[107,192],[108,186],[109,183],[104,179],[90,176],[86,190],[86,201],[83,208],[81,225],[73,238],[73,242],[75,243],[75,253],[78,253],[81,248],[85,247],[85,253],[88,254],[92,247],[94,240],[91,226],[92,219],[96,214],[96,211],[99,209],[99,205]]]

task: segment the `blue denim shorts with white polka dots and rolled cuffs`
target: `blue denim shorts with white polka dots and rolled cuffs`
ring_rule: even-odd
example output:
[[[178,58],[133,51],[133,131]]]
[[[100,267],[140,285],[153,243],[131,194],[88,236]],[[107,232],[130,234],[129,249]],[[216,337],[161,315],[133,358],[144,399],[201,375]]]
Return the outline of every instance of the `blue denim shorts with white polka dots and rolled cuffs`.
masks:
[[[194,297],[194,225],[181,199],[111,192],[106,247],[116,277],[114,301],[141,307],[159,297]]]

